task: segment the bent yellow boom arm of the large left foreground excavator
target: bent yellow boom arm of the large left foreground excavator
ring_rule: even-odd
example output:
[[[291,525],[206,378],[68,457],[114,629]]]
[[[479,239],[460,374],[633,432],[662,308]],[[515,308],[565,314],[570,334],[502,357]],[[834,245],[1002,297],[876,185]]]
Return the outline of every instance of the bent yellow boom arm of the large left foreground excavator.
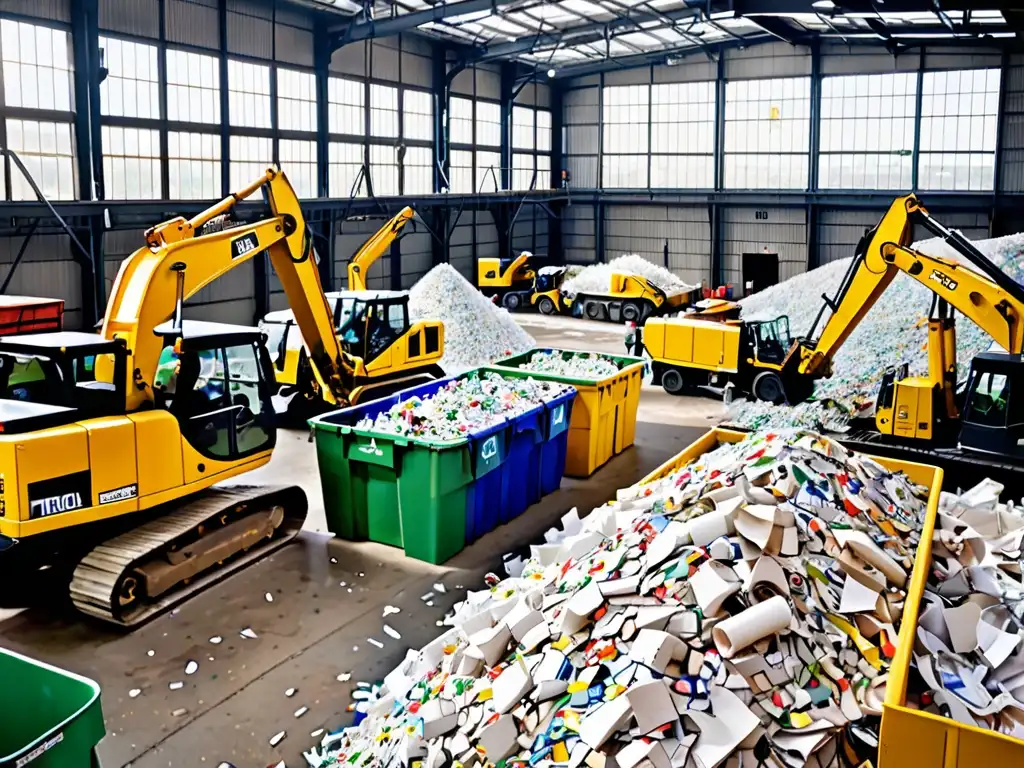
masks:
[[[200,233],[212,219],[263,189],[272,216],[255,223]],[[154,329],[171,317],[177,302],[177,272],[183,271],[183,300],[217,278],[266,251],[310,350],[326,396],[344,401],[351,370],[335,335],[334,314],[324,295],[312,241],[298,198],[286,175],[270,168],[245,189],[195,218],[176,218],[146,232],[146,244],[121,264],[103,316],[103,336],[124,339],[131,350],[127,408],[153,399],[163,340]],[[173,267],[173,268],[172,268]]]

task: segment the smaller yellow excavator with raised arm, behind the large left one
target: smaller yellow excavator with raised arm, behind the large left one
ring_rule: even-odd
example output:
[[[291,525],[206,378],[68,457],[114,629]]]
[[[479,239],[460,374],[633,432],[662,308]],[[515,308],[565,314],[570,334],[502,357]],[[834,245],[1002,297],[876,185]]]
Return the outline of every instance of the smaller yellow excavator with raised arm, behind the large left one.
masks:
[[[348,394],[352,404],[444,375],[439,365],[444,354],[440,321],[412,323],[408,292],[367,288],[370,267],[400,237],[414,215],[407,206],[374,232],[348,262],[348,290],[325,296],[338,338],[362,360],[356,385]],[[322,409],[325,401],[332,402],[330,392],[315,376],[294,311],[268,312],[259,328],[267,335],[278,383],[275,394],[287,400],[289,413],[306,417]]]

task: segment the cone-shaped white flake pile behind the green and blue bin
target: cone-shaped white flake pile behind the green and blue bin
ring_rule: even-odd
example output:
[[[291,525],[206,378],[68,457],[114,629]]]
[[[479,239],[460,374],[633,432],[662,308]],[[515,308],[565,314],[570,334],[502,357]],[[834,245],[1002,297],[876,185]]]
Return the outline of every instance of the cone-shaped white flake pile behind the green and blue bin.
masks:
[[[441,368],[449,376],[536,346],[505,309],[496,306],[451,264],[438,264],[409,292],[412,319],[444,324]]]

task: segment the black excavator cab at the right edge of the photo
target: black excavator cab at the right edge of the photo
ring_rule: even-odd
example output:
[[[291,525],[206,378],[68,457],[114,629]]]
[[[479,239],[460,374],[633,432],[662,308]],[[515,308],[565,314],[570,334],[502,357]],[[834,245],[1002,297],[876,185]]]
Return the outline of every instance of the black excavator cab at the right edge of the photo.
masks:
[[[1024,359],[984,352],[971,362],[959,445],[968,451],[1024,457]]]

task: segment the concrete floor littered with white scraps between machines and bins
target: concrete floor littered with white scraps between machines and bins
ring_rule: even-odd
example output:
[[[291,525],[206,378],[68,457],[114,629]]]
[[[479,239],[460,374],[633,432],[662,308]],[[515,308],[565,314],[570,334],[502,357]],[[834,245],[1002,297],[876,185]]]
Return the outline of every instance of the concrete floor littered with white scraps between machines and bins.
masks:
[[[521,323],[542,346],[623,350],[618,327],[531,315]],[[247,768],[280,760],[293,768],[304,765],[300,753],[318,740],[311,731],[350,722],[345,708],[355,683],[379,680],[407,648],[435,637],[435,622],[460,591],[480,588],[483,575],[500,568],[502,554],[537,541],[572,506],[589,512],[679,453],[722,415],[714,400],[671,397],[650,387],[640,402],[634,449],[586,480],[563,480],[560,490],[441,566],[407,559],[382,545],[326,535],[313,446],[305,432],[286,430],[270,464],[246,481],[305,488],[310,513],[296,543],[131,634],[87,621],[44,596],[38,602],[46,607],[0,623],[0,644],[99,682],[108,728],[98,751],[104,768],[221,761]],[[443,594],[436,583],[444,585]],[[427,607],[421,596],[431,591],[434,605]],[[401,609],[387,618],[401,640],[382,631],[386,605]],[[258,638],[239,634],[247,627]],[[223,642],[211,643],[214,636]],[[199,663],[199,671],[185,676],[189,660]],[[351,681],[338,682],[346,672]],[[184,686],[170,690],[176,681]],[[131,698],[134,688],[141,693]],[[297,689],[292,697],[285,694],[289,688]],[[301,707],[309,710],[295,718]],[[287,737],[270,748],[270,737],[281,730]]]

